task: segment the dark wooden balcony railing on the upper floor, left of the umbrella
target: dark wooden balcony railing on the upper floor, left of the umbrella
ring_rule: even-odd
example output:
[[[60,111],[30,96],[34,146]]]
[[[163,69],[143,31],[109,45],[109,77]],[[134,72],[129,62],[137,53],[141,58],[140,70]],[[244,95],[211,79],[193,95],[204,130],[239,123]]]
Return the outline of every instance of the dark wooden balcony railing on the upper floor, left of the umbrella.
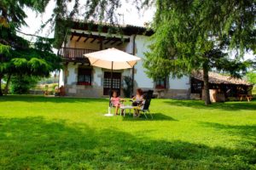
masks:
[[[89,54],[96,52],[93,49],[84,48],[61,48],[59,50],[59,55],[64,60],[64,62],[74,62],[74,63],[89,63],[89,60],[84,57],[84,54]]]

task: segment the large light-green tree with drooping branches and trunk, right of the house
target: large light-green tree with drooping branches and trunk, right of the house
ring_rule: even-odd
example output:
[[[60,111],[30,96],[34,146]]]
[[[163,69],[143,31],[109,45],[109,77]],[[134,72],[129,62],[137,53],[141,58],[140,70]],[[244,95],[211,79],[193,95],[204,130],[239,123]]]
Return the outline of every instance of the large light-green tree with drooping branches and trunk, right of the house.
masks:
[[[157,0],[155,4],[155,33],[144,62],[148,76],[181,77],[202,70],[209,105],[208,71],[239,77],[252,63],[241,59],[246,51],[255,51],[255,1]],[[227,52],[234,50],[232,59]]]

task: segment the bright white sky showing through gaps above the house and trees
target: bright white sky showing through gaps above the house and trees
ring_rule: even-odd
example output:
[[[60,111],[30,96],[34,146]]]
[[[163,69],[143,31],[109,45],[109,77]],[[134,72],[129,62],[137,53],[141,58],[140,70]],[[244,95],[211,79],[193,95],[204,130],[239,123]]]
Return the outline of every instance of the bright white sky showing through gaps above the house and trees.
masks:
[[[117,11],[120,15],[120,23],[125,25],[133,25],[133,26],[143,26],[145,22],[150,22],[153,20],[154,17],[154,8],[148,8],[144,11],[137,11],[135,5],[131,3],[126,3],[126,0],[121,0],[122,4],[124,4],[119,10]],[[72,7],[73,4],[71,3],[70,6]],[[44,31],[39,31],[40,26],[46,21],[49,20],[53,9],[55,8],[55,0],[50,0],[45,13],[44,14],[37,14],[36,12],[32,11],[30,8],[26,8],[26,24],[27,26],[22,26],[20,31],[26,32],[28,34],[35,34],[37,33],[38,36],[42,37],[53,37],[54,32],[50,32],[49,27],[46,27]],[[123,18],[124,17],[124,18]],[[124,21],[124,22],[123,22]],[[22,35],[20,35],[22,36]],[[25,38],[30,38],[26,36],[22,36]],[[255,56],[252,52],[245,54],[244,59],[255,59]]]

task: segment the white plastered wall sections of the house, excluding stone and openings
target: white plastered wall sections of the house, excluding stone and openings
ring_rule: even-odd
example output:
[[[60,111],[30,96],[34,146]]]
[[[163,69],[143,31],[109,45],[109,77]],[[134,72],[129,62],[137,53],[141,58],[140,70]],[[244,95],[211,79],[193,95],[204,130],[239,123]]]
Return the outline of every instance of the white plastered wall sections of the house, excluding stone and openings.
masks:
[[[93,34],[97,34],[96,32],[93,32]],[[113,35],[115,37],[118,37],[118,35]],[[125,52],[132,54],[133,50],[133,38],[132,35],[130,37],[130,42],[126,42],[124,45],[117,46],[116,44],[111,45],[110,43],[104,44],[103,43],[103,49],[105,48],[119,48],[120,50],[125,50]],[[150,43],[148,41],[149,37],[143,36],[143,35],[137,35],[136,42],[135,42],[135,48],[136,48],[136,55],[140,57],[142,60],[137,62],[137,65],[135,65],[135,75],[134,79],[137,83],[138,88],[154,88],[154,81],[145,73],[145,69],[143,68],[143,59],[145,58],[144,53],[147,52],[148,44]],[[70,37],[68,37],[68,40]],[[67,43],[67,47],[69,48],[87,48],[87,49],[95,49],[99,50],[100,44],[95,42],[91,43],[91,39],[89,39],[87,42],[84,42],[84,37],[82,37],[79,42],[76,40],[78,37],[73,37],[72,41],[69,41]],[[68,73],[69,76],[67,77],[67,84],[71,85],[74,82],[77,82],[77,73],[75,72],[75,69],[78,67],[78,65],[73,65],[73,63],[70,63],[68,65]],[[92,84],[96,86],[102,85],[102,78],[99,77],[99,75],[102,75],[102,69],[94,67],[94,74],[92,79]],[[64,73],[62,71],[61,73],[62,77],[60,77],[60,84],[64,84]],[[123,71],[122,76],[131,76],[131,70]],[[189,89],[189,77],[182,77],[180,79],[169,77],[169,88],[171,89]]]

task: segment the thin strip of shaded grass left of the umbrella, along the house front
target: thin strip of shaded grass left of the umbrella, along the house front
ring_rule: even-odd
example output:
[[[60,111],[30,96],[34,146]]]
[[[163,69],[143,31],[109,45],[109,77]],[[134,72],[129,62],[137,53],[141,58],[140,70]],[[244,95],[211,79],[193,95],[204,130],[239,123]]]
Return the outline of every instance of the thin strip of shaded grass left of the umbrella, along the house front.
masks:
[[[22,102],[49,102],[49,103],[90,103],[90,102],[100,102],[106,103],[108,105],[108,99],[93,99],[93,98],[67,98],[67,97],[44,97],[40,95],[8,95],[0,97],[0,102],[4,101],[22,101]]]

